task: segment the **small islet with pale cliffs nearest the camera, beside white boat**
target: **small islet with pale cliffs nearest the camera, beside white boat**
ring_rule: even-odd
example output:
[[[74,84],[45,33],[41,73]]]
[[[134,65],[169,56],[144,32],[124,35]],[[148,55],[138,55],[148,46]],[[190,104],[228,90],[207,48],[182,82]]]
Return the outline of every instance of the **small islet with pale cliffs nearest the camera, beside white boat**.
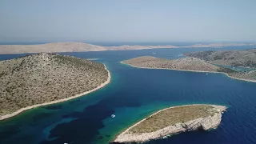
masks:
[[[186,105],[159,110],[118,134],[113,142],[147,142],[192,130],[218,127],[226,106]]]

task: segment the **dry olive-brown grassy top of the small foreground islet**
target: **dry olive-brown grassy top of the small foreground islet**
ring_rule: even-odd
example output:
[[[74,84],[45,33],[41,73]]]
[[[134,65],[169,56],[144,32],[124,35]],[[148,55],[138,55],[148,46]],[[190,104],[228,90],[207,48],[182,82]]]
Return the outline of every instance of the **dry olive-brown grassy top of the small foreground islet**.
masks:
[[[206,118],[218,113],[213,106],[178,106],[171,109],[163,110],[158,114],[146,118],[145,121],[134,126],[129,131],[132,133],[150,133],[163,129],[176,123],[189,122],[197,118]]]

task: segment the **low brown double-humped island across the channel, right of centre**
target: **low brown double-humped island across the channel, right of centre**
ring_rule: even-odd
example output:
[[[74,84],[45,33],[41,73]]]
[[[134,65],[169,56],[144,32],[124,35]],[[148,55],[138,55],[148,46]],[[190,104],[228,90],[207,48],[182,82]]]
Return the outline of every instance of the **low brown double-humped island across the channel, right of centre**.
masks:
[[[122,61],[122,63],[147,69],[167,69],[167,70],[185,70],[194,72],[210,72],[210,73],[222,73],[226,74],[230,78],[238,80],[244,80],[248,82],[256,82],[256,71],[243,71],[237,72],[229,68],[221,66],[215,66],[210,62],[206,62],[200,58],[179,58],[179,59],[165,59],[155,58],[151,56],[142,56],[138,58],[131,58],[129,60]]]

